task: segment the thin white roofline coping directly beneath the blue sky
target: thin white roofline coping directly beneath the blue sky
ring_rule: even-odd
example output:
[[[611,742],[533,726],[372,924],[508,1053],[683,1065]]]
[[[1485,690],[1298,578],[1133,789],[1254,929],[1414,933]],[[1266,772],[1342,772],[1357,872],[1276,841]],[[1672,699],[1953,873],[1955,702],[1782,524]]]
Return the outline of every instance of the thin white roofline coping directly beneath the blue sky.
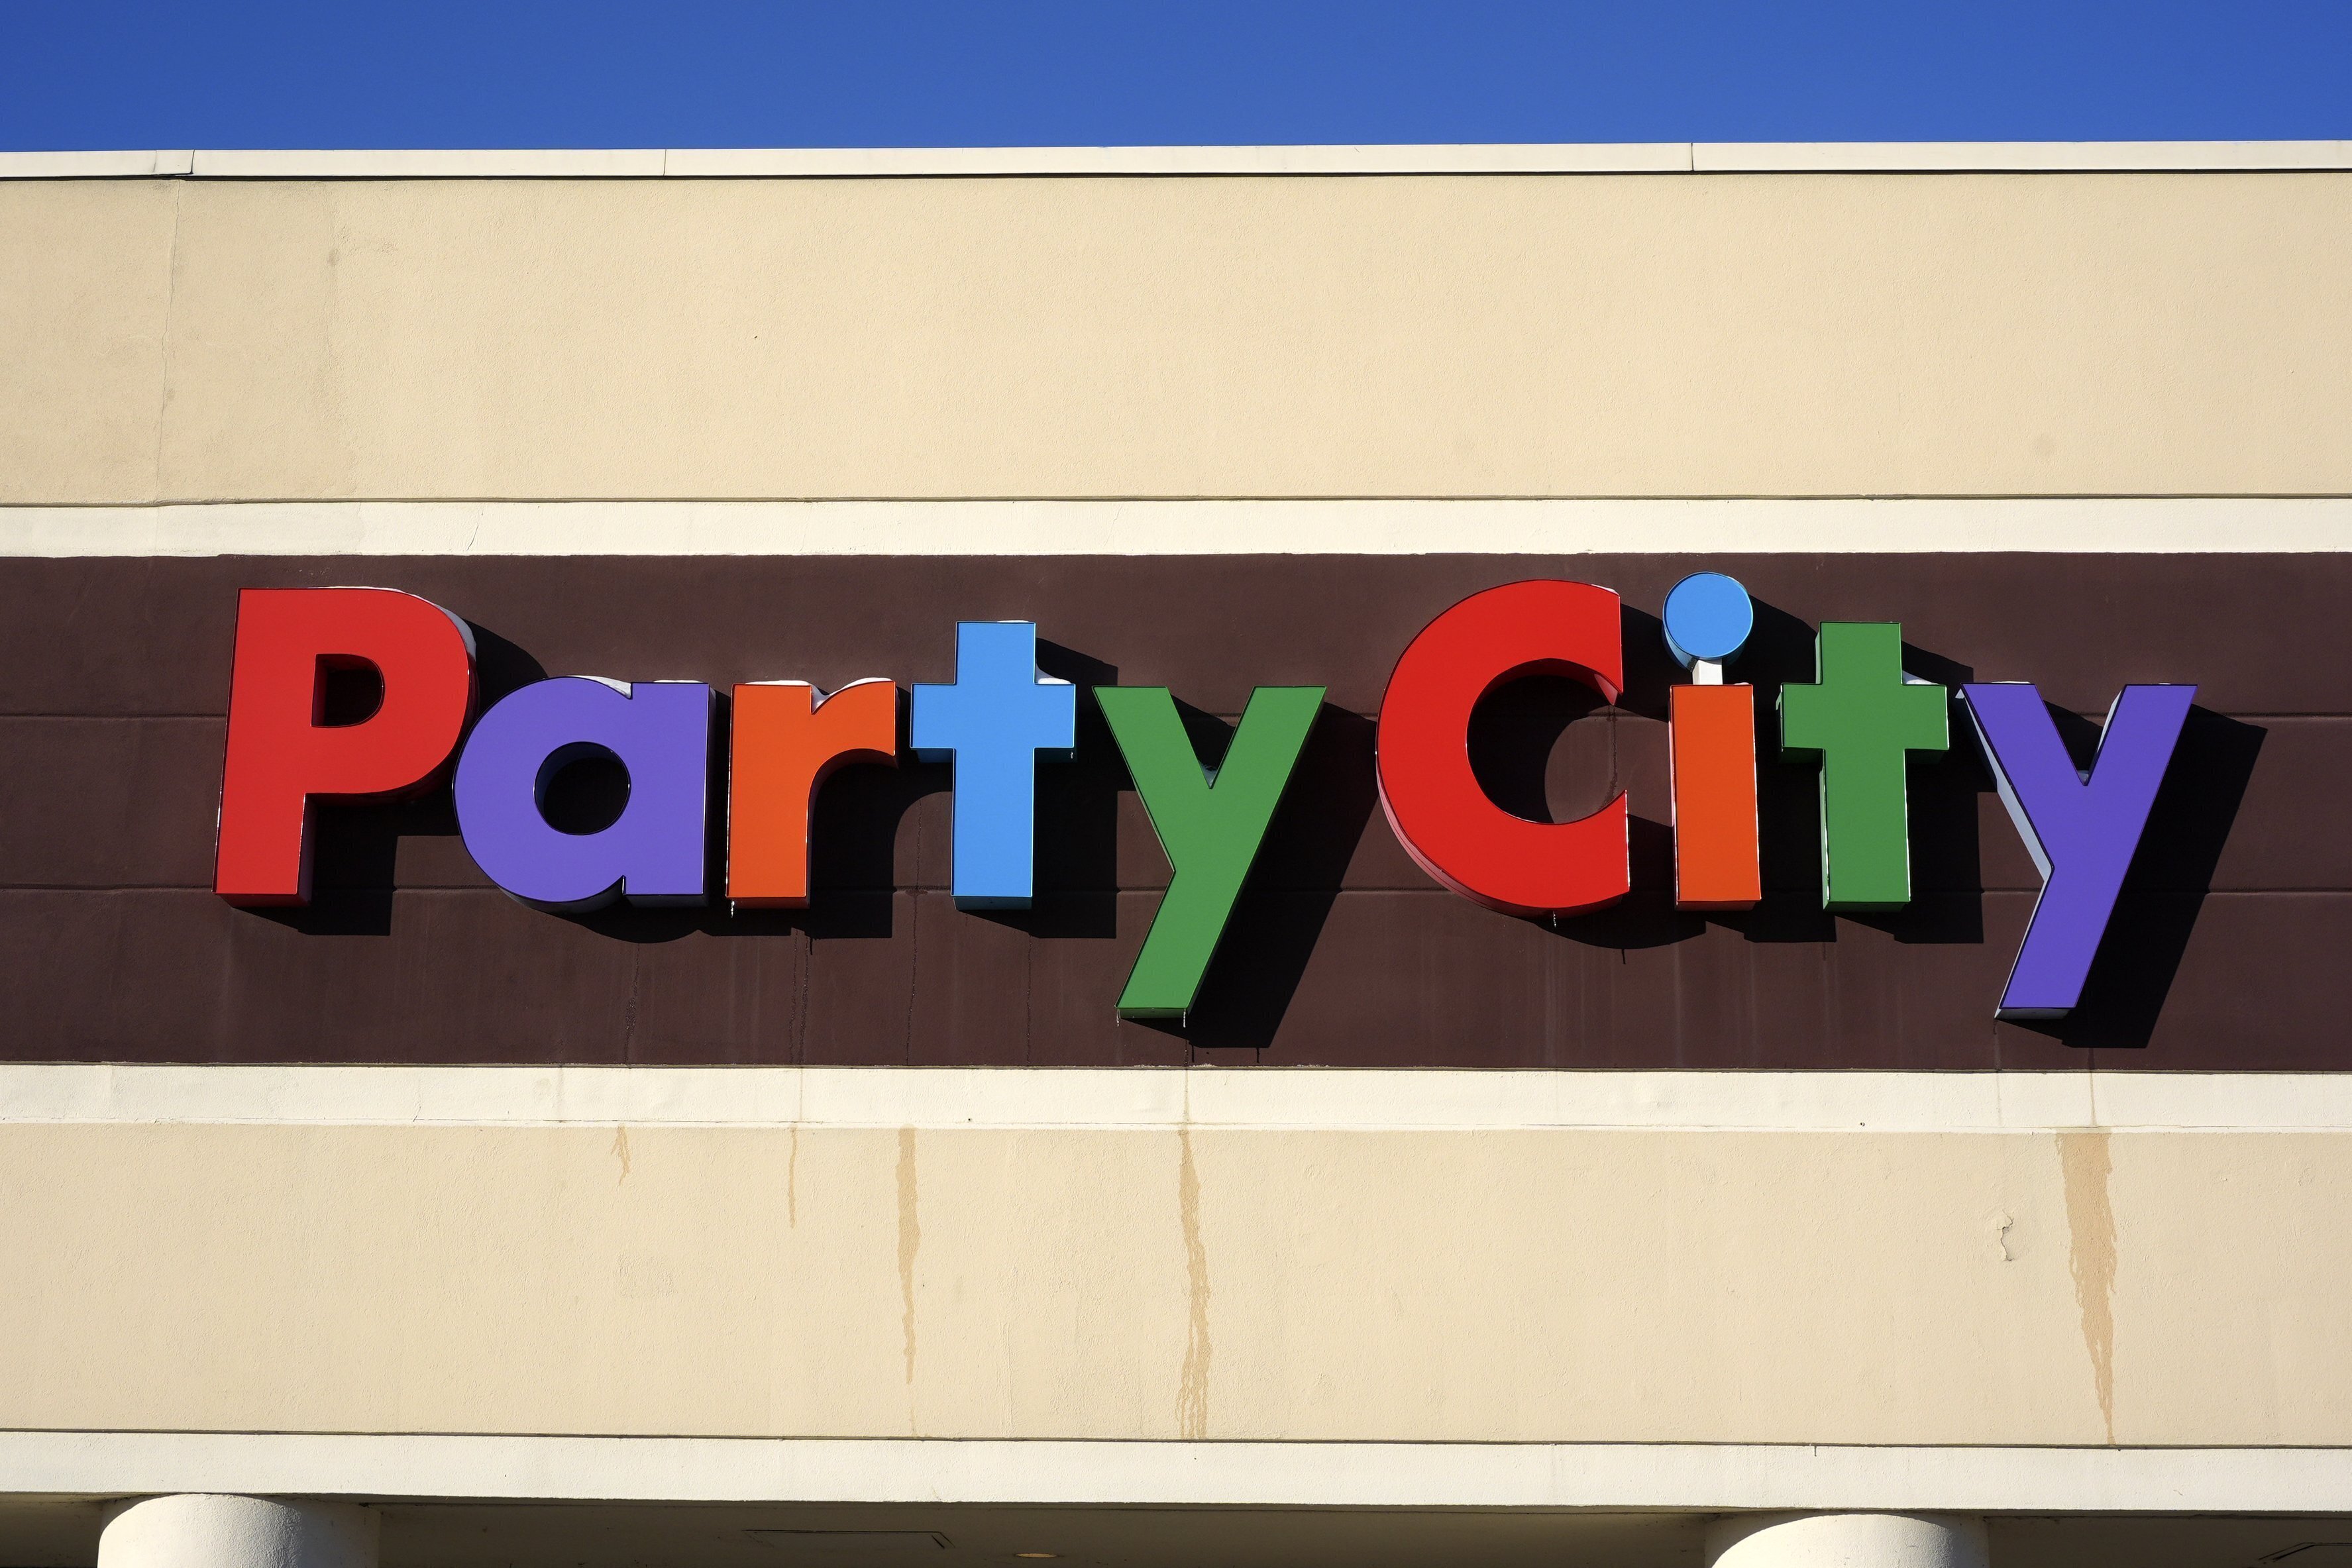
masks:
[[[2352,141],[1562,141],[1162,148],[200,148],[0,153],[0,179],[985,179],[2352,169]]]

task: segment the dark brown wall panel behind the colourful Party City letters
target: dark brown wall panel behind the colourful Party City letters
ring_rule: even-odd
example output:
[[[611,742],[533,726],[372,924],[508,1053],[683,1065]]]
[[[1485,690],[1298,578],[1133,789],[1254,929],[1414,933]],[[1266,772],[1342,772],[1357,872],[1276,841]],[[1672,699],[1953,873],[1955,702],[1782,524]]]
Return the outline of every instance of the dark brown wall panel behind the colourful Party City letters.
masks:
[[[1757,599],[1764,900],[1677,912],[1656,609],[1693,569]],[[1526,679],[1479,708],[1522,816],[1625,790],[1632,896],[1529,922],[1437,886],[1376,804],[1374,717],[1449,604],[1519,578],[1616,588],[1625,693]],[[1112,1004],[1167,882],[1103,722],[1040,771],[1037,898],[957,910],[948,769],[847,769],[804,910],[607,907],[494,889],[447,792],[325,809],[303,910],[212,889],[240,588],[369,583],[475,628],[485,703],[541,675],[953,677],[955,623],[1035,621],[1040,663],[1164,684],[1195,724],[1329,689],[1200,1004]],[[0,1051],[193,1063],[920,1063],[1381,1067],[2352,1065],[2352,599],[2331,555],[564,557],[0,564]],[[1910,907],[1825,914],[1816,773],[1771,701],[1820,621],[1900,621],[1905,668],[2030,679],[2091,733],[2126,682],[2197,710],[2074,1018],[1994,1023],[2039,875],[1955,745],[1912,766]],[[720,886],[717,872],[713,886]]]

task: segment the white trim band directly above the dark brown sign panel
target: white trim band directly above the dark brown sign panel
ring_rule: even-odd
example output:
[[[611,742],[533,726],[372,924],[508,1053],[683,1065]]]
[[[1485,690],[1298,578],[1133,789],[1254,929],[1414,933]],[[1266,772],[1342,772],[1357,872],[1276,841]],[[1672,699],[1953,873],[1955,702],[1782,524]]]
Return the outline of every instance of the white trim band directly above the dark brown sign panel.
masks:
[[[2352,498],[228,501],[0,508],[0,557],[2336,552]]]

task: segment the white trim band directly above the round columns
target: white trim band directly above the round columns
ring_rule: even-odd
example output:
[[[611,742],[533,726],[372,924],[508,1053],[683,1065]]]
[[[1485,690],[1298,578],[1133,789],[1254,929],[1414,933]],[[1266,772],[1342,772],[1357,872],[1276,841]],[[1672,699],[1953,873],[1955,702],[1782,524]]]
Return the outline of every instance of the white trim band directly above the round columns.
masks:
[[[2333,1514],[2352,1450],[0,1432],[0,1495],[127,1493]]]

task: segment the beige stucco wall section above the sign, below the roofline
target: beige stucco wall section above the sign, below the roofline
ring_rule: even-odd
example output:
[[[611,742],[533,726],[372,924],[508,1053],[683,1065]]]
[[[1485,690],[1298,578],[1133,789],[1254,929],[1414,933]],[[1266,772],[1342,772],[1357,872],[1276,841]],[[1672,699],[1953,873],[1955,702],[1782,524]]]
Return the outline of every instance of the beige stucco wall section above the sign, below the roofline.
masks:
[[[2352,174],[0,183],[0,501],[2352,491]]]

